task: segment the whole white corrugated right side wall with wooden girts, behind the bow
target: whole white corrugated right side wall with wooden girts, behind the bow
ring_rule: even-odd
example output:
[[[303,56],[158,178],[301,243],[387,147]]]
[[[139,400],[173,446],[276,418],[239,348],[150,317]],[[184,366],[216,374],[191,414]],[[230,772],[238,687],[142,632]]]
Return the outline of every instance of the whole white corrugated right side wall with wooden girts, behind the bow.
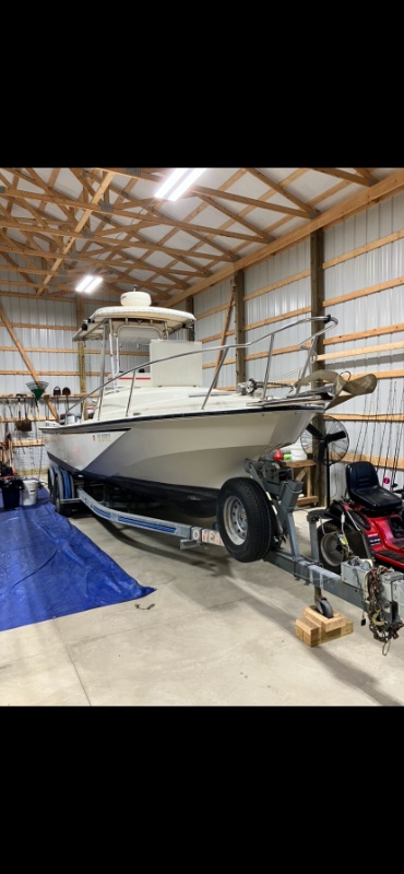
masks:
[[[349,399],[336,408],[333,417],[341,421],[347,432],[346,460],[371,460],[378,468],[380,482],[388,488],[393,480],[403,487],[404,338],[403,330],[396,330],[403,324],[404,239],[400,236],[403,229],[404,196],[400,194],[324,232],[322,315],[330,312],[338,324],[325,336],[322,365],[345,378],[365,373],[378,377],[372,394]],[[205,364],[210,365],[205,370],[205,385],[211,381],[216,361],[216,353],[210,354],[207,350],[221,342],[230,295],[231,285],[227,281],[199,295],[194,302],[197,338],[204,342]],[[271,377],[274,380],[287,380],[298,374],[301,353],[290,352],[289,346],[301,343],[310,329],[307,333],[306,326],[289,329],[287,326],[310,312],[309,240],[245,272],[246,342],[256,341],[270,330],[286,329],[275,340],[280,354],[273,357]],[[394,329],[391,332],[390,327]],[[233,311],[227,343],[235,342],[234,328]],[[340,335],[347,335],[346,341],[328,343],[329,339]],[[254,353],[266,350],[268,340],[253,347]],[[246,378],[262,379],[264,358],[252,359],[251,352],[252,349],[247,351]],[[228,362],[218,385],[230,388],[236,385],[231,353]],[[345,464],[331,466],[330,481],[330,497],[342,497]]]

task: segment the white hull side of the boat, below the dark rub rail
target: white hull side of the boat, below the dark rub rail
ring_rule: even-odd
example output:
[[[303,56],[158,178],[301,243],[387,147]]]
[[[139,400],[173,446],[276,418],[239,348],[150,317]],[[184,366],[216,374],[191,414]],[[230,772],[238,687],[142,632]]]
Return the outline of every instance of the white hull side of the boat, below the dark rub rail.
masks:
[[[286,409],[285,409],[286,408]],[[295,442],[321,404],[84,422],[43,429],[49,458],[87,477],[212,492],[245,460]]]

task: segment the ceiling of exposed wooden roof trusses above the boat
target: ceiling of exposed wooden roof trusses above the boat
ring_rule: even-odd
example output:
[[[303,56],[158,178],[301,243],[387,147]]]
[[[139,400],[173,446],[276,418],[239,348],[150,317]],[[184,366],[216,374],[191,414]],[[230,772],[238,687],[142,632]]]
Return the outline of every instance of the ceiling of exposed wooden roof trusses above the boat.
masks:
[[[52,299],[73,295],[78,276],[91,271],[102,275],[111,294],[140,284],[154,299],[175,306],[178,298],[186,300],[221,277],[294,245],[317,221],[322,226],[329,214],[323,202],[334,198],[335,214],[343,218],[354,185],[361,189],[356,194],[358,210],[372,202],[372,198],[361,200],[363,194],[380,190],[381,185],[380,168],[375,167],[295,168],[282,182],[273,178],[278,172],[272,176],[269,169],[241,167],[229,170],[227,178],[222,174],[225,181],[217,188],[192,186],[176,212],[168,201],[154,197],[156,182],[168,170],[67,167],[45,174],[40,168],[0,168],[2,293],[9,288],[20,293],[23,286]],[[310,201],[296,193],[308,172],[311,192],[316,173],[329,176],[329,181],[334,177],[334,184],[324,188],[322,182]],[[399,170],[385,173],[394,179]],[[261,184],[257,198],[248,196],[249,176]],[[261,220],[269,216],[265,227],[257,226],[258,210]]]

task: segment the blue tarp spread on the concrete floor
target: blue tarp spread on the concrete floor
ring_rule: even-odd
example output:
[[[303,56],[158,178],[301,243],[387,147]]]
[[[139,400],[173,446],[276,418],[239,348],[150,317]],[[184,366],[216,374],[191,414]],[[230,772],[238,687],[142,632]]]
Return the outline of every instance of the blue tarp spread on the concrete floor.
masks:
[[[4,509],[0,492],[0,630],[154,592],[56,512],[39,488],[32,506]]]

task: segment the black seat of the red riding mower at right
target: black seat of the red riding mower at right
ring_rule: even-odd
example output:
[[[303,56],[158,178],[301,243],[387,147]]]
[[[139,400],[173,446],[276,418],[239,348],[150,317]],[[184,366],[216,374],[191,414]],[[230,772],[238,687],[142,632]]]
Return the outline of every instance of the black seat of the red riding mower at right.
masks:
[[[345,475],[349,497],[359,501],[369,513],[384,516],[402,508],[402,499],[380,485],[370,461],[353,461],[346,465]]]

